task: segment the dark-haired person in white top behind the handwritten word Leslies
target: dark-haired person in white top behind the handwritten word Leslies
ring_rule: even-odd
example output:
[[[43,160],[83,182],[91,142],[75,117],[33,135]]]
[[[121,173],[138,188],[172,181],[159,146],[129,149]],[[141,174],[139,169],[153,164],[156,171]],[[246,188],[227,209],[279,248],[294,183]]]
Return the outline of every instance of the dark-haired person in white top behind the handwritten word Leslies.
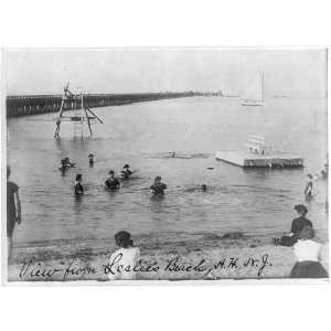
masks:
[[[132,269],[140,259],[140,250],[134,246],[131,234],[120,231],[115,235],[115,241],[119,249],[110,256],[109,280],[137,279],[137,271]]]

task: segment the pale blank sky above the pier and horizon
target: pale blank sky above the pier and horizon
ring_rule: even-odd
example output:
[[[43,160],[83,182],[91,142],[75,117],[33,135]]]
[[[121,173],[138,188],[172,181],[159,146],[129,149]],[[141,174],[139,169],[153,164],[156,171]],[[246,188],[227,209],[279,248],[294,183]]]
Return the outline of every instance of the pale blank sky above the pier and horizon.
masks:
[[[324,96],[325,50],[128,49],[7,51],[7,95],[224,90],[241,94],[258,71],[266,95]],[[76,90],[75,90],[76,89]]]

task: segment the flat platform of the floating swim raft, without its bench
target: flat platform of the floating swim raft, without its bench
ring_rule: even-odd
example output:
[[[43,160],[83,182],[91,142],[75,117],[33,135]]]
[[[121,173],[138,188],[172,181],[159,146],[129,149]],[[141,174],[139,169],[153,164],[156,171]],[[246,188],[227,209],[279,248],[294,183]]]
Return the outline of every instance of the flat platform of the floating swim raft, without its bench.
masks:
[[[303,159],[290,153],[255,154],[249,151],[217,151],[216,159],[243,168],[302,168]]]

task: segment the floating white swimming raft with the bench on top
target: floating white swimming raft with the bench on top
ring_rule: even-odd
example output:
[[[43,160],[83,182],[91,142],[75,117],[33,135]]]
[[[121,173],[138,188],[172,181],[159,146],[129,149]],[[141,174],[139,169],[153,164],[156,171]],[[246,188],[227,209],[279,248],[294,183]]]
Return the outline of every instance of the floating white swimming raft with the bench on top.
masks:
[[[265,138],[250,136],[246,150],[217,151],[216,160],[243,168],[302,168],[303,158],[284,151],[275,151]]]

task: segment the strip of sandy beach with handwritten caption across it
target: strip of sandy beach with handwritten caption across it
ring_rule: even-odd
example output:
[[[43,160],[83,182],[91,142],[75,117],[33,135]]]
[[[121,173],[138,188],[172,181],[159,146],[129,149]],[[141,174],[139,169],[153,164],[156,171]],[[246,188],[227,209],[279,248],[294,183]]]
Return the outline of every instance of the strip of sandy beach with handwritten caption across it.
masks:
[[[288,278],[296,263],[293,248],[274,246],[270,237],[242,233],[179,234],[173,238],[140,237],[140,280],[266,279]],[[322,246],[322,265],[328,269],[327,241]],[[114,241],[86,246],[17,247],[9,266],[9,281],[108,281],[109,257]],[[92,243],[89,243],[92,244]],[[88,244],[88,245],[89,245]],[[108,266],[108,269],[107,269]],[[131,266],[132,267],[132,266]]]

